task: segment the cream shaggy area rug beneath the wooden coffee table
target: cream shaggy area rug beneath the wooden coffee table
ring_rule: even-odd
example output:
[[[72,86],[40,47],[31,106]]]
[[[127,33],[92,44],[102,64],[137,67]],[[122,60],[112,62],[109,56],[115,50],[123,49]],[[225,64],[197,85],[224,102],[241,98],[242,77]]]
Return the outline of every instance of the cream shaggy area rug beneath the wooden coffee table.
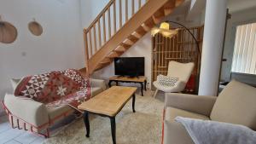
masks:
[[[131,101],[128,101],[116,116],[117,143],[160,144],[163,107],[163,100],[152,98],[149,90],[144,96],[136,96],[135,113],[132,112]],[[44,144],[112,144],[109,118],[92,114],[89,117],[90,138],[85,137],[84,121],[79,118]]]

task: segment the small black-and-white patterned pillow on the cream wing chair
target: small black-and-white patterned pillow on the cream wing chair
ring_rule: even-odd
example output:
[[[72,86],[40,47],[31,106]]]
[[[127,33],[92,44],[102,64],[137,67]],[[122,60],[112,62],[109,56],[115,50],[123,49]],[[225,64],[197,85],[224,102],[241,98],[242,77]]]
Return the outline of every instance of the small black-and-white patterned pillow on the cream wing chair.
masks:
[[[175,86],[175,84],[177,83],[178,78],[173,78],[173,77],[168,77],[168,76],[164,76],[164,75],[159,75],[157,76],[157,82],[161,85],[165,85],[165,86]]]

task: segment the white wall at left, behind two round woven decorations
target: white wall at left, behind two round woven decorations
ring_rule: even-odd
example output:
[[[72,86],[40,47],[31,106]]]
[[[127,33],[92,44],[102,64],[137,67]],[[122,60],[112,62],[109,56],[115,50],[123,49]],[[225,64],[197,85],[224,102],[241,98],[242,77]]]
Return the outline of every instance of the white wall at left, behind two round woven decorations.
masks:
[[[0,99],[12,92],[10,78],[84,66],[79,0],[1,0],[0,14],[18,30],[15,43],[0,43]],[[32,18],[40,37],[28,31]]]

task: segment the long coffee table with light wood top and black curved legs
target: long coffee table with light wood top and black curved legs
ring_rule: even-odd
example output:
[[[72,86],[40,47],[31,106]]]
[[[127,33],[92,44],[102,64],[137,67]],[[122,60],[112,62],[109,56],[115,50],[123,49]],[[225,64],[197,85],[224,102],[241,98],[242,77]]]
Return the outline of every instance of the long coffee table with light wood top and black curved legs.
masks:
[[[110,118],[111,133],[113,144],[115,139],[115,116],[122,110],[125,103],[132,97],[132,110],[135,112],[135,87],[113,86],[99,95],[84,101],[79,105],[79,109],[84,111],[84,124],[86,128],[86,137],[90,136],[89,113],[98,114],[102,117]]]

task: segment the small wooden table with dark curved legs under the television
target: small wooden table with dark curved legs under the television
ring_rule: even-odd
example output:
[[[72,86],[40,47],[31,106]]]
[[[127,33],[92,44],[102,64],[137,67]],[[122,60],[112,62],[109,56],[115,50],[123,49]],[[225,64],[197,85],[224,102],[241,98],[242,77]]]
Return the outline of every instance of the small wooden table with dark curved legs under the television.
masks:
[[[147,90],[146,85],[147,85],[147,78],[144,76],[140,77],[135,77],[135,78],[129,78],[129,77],[119,77],[119,76],[113,76],[109,78],[108,86],[109,88],[111,87],[111,83],[115,82],[116,85],[119,85],[120,83],[138,83],[141,84],[141,91],[143,95],[143,88],[145,91]],[[144,85],[143,85],[144,84]]]

